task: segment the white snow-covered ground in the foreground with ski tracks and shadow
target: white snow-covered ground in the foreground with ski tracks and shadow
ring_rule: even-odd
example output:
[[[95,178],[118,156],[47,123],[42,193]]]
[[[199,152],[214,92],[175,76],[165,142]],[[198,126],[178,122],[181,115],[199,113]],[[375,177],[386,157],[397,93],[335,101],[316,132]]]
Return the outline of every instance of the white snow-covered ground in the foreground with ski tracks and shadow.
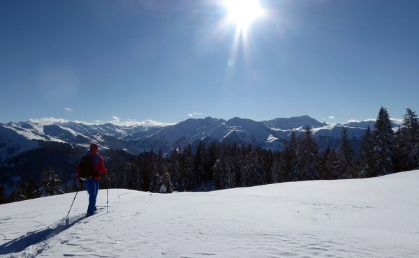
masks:
[[[0,205],[0,257],[419,257],[419,171],[170,195]],[[98,205],[106,205],[101,190]]]

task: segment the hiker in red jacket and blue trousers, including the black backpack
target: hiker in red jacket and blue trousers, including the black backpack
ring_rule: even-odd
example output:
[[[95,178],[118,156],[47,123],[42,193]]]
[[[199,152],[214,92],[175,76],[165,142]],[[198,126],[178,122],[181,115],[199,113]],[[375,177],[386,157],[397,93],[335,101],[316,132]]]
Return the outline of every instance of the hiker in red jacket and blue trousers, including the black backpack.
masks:
[[[76,169],[79,182],[84,183],[84,186],[89,193],[89,206],[87,207],[86,218],[93,215],[94,211],[96,211],[96,197],[98,196],[99,191],[100,175],[108,173],[108,169],[105,168],[103,158],[99,155],[98,150],[98,144],[91,144],[89,151],[87,151],[86,156],[83,157]],[[91,164],[84,165],[84,160],[91,160]],[[89,161],[87,161],[87,163],[88,162]],[[91,165],[91,169],[86,169],[89,165]]]

